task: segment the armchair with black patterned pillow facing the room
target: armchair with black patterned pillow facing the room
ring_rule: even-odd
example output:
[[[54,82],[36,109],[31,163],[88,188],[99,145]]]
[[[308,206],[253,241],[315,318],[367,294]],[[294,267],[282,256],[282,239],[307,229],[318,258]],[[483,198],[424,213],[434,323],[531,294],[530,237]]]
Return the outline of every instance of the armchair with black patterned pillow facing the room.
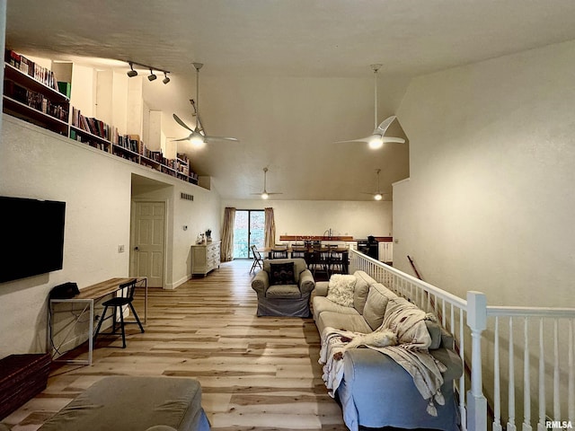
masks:
[[[253,277],[258,294],[258,316],[310,316],[310,295],[314,276],[305,259],[265,259],[263,269]]]

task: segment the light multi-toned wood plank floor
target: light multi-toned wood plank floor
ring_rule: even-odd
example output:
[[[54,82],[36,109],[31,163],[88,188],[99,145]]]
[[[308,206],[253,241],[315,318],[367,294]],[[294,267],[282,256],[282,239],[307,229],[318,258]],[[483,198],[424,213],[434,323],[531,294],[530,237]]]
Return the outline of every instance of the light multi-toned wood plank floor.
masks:
[[[197,378],[216,431],[346,430],[323,385],[313,319],[256,317],[251,264],[150,289],[145,333],[128,325],[125,349],[121,337],[99,339],[93,365],[53,369],[48,388],[2,422],[33,431],[103,376],[127,374]]]

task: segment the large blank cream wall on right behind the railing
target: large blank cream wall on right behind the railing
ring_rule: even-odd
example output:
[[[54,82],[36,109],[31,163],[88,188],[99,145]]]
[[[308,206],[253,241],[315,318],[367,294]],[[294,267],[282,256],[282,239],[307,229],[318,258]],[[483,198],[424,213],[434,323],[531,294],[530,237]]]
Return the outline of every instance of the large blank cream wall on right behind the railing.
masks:
[[[414,79],[394,265],[490,304],[575,306],[575,42]]]

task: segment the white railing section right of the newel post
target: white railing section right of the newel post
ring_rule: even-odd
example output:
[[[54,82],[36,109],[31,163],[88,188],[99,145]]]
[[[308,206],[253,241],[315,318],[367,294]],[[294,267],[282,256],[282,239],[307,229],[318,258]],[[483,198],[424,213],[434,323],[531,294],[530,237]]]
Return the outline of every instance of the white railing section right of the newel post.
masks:
[[[515,429],[518,420],[522,431],[575,427],[575,309],[488,306],[487,316],[494,322],[492,338],[486,337],[494,346],[492,365],[487,365],[494,370],[493,429],[502,428],[500,395],[505,391],[508,430]],[[507,321],[507,331],[501,330],[501,321]],[[501,370],[501,339],[509,344],[507,370]],[[501,375],[507,375],[507,388]],[[517,403],[517,397],[522,402]]]

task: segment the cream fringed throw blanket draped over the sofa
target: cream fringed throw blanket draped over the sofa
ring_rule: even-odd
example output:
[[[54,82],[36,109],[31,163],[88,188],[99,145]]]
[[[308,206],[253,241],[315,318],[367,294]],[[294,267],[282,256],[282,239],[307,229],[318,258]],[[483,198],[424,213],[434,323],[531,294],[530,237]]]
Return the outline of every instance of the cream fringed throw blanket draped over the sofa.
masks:
[[[441,373],[447,371],[447,367],[431,356],[428,351],[431,340],[425,327],[425,320],[431,320],[434,317],[420,310],[414,310],[412,307],[401,305],[396,306],[392,314],[394,314],[391,316],[393,318],[386,319],[378,330],[393,330],[399,342],[403,344],[387,347],[366,345],[366,347],[390,356],[397,364],[403,366],[405,371],[411,374],[413,383],[423,399],[429,400],[427,409],[429,415],[437,416],[438,411],[434,401],[439,405],[445,404],[440,388],[443,384]],[[332,397],[335,396],[335,391],[343,378],[343,360],[338,360],[334,356],[345,354],[347,341],[360,335],[363,334],[348,330],[335,330],[330,327],[323,330],[319,363],[323,364],[323,382]],[[344,337],[343,341],[342,337]],[[408,340],[410,342],[406,342]]]

